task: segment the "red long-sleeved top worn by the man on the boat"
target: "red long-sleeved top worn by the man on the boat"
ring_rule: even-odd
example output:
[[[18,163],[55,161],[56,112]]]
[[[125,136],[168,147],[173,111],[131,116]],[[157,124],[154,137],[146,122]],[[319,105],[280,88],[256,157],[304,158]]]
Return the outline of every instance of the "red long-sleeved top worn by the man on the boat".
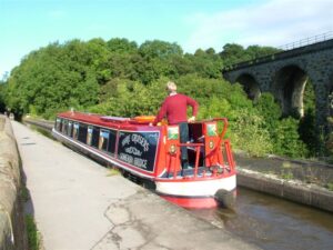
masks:
[[[169,124],[186,122],[188,106],[192,107],[192,116],[195,117],[199,107],[196,101],[181,93],[167,97],[153,123],[157,124],[164,117],[167,117]]]

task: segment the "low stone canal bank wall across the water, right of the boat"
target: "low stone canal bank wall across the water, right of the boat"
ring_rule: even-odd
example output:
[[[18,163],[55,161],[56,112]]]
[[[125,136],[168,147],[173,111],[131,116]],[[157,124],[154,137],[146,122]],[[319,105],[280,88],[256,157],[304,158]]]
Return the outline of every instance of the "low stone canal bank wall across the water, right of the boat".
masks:
[[[333,212],[333,167],[279,157],[235,156],[238,186]]]

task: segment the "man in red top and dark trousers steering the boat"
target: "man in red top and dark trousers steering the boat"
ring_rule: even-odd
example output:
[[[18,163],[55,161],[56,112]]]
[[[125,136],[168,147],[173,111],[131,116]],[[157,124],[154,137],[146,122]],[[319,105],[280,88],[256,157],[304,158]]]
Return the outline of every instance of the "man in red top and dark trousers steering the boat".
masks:
[[[199,104],[195,100],[178,93],[176,84],[172,81],[167,83],[167,91],[169,96],[164,99],[153,124],[155,126],[167,117],[169,124],[179,124],[180,143],[186,143],[189,141],[188,122],[195,121]],[[188,106],[192,107],[192,117],[190,119],[188,119]],[[181,148],[181,161],[183,169],[189,168],[186,147]]]

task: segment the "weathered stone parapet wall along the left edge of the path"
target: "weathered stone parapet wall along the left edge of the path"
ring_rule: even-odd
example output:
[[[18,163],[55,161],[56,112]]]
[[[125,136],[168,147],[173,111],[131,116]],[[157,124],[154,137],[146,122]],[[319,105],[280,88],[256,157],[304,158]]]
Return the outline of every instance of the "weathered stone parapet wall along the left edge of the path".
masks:
[[[10,120],[0,114],[0,250],[28,249],[20,159]]]

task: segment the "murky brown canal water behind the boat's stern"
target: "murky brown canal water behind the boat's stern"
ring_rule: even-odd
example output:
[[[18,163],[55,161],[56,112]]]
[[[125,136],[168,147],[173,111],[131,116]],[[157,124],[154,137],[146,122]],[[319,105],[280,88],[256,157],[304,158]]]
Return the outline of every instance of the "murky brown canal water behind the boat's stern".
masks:
[[[333,250],[333,213],[238,188],[235,209],[191,210],[266,250]]]

